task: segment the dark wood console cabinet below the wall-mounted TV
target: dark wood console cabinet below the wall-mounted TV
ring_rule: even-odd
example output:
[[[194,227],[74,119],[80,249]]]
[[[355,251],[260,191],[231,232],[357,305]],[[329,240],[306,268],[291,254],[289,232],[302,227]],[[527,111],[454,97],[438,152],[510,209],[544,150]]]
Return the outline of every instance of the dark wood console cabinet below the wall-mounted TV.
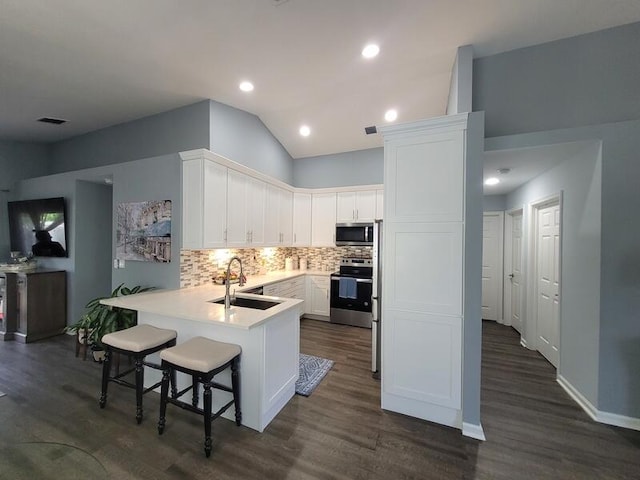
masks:
[[[0,340],[35,342],[63,332],[67,324],[64,270],[0,272]]]

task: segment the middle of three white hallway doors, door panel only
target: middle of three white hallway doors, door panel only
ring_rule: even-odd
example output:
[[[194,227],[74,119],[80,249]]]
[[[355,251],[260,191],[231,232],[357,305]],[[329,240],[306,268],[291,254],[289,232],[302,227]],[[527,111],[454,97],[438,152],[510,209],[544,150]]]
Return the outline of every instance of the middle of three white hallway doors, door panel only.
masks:
[[[505,255],[505,323],[522,333],[522,210],[509,214]]]

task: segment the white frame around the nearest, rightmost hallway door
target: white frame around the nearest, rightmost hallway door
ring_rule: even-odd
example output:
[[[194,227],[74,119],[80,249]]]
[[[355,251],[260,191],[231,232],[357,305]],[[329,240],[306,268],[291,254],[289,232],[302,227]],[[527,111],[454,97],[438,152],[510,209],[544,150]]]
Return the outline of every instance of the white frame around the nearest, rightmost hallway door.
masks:
[[[558,295],[560,297],[558,306],[558,368],[556,372],[560,371],[560,362],[562,359],[562,337],[560,325],[562,324],[562,244],[563,244],[563,208],[562,208],[562,190],[558,193],[554,193],[544,198],[540,198],[534,202],[531,202],[527,208],[528,212],[528,255],[527,255],[527,323],[525,330],[526,345],[531,350],[537,349],[538,340],[538,212],[544,208],[558,205],[560,209],[560,258],[559,258],[559,272],[560,272],[560,286],[558,288]]]

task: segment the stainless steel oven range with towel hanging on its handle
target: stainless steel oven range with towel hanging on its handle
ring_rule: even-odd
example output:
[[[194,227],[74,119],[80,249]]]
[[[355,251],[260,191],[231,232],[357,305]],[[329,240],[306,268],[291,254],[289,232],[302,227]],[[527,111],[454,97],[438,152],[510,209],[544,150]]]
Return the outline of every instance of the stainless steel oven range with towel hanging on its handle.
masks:
[[[373,260],[343,258],[331,275],[331,322],[371,328]]]

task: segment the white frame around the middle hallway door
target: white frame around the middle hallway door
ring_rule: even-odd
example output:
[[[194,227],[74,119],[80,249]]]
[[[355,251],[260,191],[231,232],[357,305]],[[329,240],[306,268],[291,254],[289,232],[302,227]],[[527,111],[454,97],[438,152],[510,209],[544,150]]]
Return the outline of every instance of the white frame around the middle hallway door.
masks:
[[[522,277],[520,279],[521,282],[521,294],[520,294],[520,335],[522,335],[522,330],[524,330],[524,325],[526,323],[527,314],[524,310],[524,297],[523,293],[526,293],[527,289],[527,268],[526,268],[526,257],[524,255],[525,252],[525,232],[524,232],[524,205],[521,207],[512,208],[511,210],[507,210],[504,212],[504,276],[503,276],[503,284],[502,291],[503,294],[503,302],[504,305],[502,307],[504,324],[507,326],[511,325],[511,278],[509,277],[509,273],[513,271],[513,217],[516,215],[522,216],[522,239],[521,239],[521,248],[520,248],[520,265],[522,267]]]

